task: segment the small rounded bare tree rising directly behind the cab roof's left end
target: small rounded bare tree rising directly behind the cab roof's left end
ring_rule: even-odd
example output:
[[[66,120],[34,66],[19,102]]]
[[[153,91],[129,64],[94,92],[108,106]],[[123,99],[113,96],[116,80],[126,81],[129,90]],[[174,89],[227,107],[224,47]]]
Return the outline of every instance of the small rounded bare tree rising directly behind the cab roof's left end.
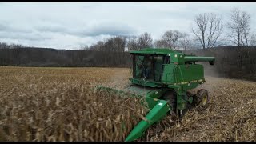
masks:
[[[153,39],[151,38],[151,35],[149,33],[141,34],[138,37],[138,47],[139,49],[144,49],[146,47],[153,46]]]

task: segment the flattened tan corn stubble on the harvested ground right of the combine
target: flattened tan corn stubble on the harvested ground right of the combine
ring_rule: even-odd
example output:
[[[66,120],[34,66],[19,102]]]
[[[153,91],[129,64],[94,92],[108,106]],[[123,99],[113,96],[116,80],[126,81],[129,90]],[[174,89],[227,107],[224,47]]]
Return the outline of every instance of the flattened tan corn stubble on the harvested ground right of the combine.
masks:
[[[225,78],[206,78],[198,87],[210,92],[210,106],[205,111],[192,108],[181,121],[166,127],[170,116],[160,122],[162,133],[148,130],[141,141],[255,141],[256,82]],[[154,131],[154,132],[152,132]]]

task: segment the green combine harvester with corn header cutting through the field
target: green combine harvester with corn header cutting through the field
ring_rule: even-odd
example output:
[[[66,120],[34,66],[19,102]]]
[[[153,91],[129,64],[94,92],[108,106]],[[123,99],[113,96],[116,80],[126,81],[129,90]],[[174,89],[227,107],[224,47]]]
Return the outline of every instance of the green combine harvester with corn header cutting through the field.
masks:
[[[150,111],[145,116],[146,121],[142,120],[134,127],[126,142],[140,138],[147,128],[170,112],[182,116],[190,106],[206,109],[208,91],[201,89],[192,94],[190,90],[206,82],[203,66],[195,62],[214,65],[214,57],[197,57],[178,50],[155,48],[134,50],[130,54],[133,63],[130,84],[125,90],[117,91],[144,97]]]

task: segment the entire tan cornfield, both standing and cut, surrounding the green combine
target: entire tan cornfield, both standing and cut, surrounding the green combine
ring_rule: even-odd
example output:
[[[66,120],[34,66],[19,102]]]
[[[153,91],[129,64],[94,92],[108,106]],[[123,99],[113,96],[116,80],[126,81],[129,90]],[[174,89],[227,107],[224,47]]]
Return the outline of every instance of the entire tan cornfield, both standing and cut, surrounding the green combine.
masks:
[[[146,114],[136,98],[95,91],[122,88],[125,68],[0,67],[0,141],[123,141]],[[255,141],[256,82],[206,77],[205,111],[170,116],[138,141]],[[120,131],[121,130],[121,131]]]

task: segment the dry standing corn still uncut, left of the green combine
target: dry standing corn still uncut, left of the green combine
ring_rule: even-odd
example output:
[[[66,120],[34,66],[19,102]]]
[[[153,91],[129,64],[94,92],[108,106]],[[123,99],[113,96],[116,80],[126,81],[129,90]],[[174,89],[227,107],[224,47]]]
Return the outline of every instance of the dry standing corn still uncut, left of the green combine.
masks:
[[[93,89],[110,69],[42,70],[1,68],[1,141],[123,141],[146,113],[136,98]]]

